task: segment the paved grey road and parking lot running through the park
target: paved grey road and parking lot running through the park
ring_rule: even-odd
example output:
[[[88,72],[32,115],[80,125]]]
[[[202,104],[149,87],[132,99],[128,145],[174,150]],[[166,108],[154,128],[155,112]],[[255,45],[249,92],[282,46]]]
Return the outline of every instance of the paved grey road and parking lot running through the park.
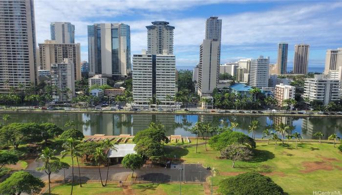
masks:
[[[30,161],[26,171],[32,175],[40,177],[42,180],[47,180],[47,175],[44,172],[36,171],[36,168],[42,166],[42,162]],[[185,168],[185,181],[205,181],[207,176],[211,175],[211,171],[206,170],[201,164],[183,164],[172,165],[171,168],[164,167],[151,167],[145,166],[134,171],[137,175],[137,179],[147,181],[178,181],[180,178],[179,168]],[[100,180],[99,170],[97,167],[81,167],[81,179],[86,180]],[[101,176],[105,180],[107,176],[107,167],[101,167]],[[120,165],[114,165],[109,167],[109,180],[126,180],[127,177],[132,174],[131,170],[120,167]],[[65,179],[71,179],[71,167],[65,170]],[[74,179],[79,178],[78,167],[74,167]],[[64,171],[60,171],[57,174],[51,174],[51,180],[63,180]],[[183,170],[181,173],[181,180],[183,180]]]

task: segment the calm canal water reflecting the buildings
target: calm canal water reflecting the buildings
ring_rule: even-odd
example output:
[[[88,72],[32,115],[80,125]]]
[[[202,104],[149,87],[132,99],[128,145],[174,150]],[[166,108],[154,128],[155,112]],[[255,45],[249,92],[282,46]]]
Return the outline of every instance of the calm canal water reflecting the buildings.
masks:
[[[292,133],[299,132],[304,139],[315,139],[313,134],[321,131],[323,139],[332,133],[342,137],[342,118],[337,117],[253,117],[222,115],[174,115],[174,114],[108,114],[108,113],[2,113],[11,116],[10,122],[52,122],[64,128],[66,121],[75,122],[75,128],[84,135],[105,134],[135,135],[146,129],[150,122],[159,122],[165,126],[166,135],[194,136],[187,130],[198,122],[211,123],[214,126],[228,125],[237,122],[236,131],[248,134],[248,125],[252,120],[260,121],[256,138],[262,137],[262,131],[272,124],[285,123],[293,126]],[[2,117],[0,117],[2,118]],[[1,123],[4,123],[0,119]]]

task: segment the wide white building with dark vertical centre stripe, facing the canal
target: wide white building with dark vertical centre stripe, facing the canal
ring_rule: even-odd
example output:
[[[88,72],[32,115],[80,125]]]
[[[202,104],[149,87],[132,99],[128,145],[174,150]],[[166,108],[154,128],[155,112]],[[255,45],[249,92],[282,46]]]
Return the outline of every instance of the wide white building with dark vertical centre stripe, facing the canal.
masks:
[[[133,55],[133,99],[136,104],[149,104],[150,99],[169,104],[175,96],[176,58],[174,55],[150,55],[144,50],[142,54]]]

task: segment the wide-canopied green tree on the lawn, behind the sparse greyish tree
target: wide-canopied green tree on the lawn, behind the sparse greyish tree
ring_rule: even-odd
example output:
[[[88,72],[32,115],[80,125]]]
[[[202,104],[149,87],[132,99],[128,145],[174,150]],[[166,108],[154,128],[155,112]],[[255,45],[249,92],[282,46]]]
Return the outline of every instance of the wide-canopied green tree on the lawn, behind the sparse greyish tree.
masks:
[[[231,144],[243,144],[256,148],[256,142],[252,137],[236,131],[225,131],[209,139],[209,145],[214,150],[222,150]]]

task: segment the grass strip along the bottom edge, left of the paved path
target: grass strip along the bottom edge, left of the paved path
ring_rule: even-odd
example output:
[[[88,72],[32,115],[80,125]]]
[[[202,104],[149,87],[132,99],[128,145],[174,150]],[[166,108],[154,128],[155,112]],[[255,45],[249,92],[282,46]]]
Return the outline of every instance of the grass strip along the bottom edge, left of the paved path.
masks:
[[[71,184],[63,184],[56,186],[52,189],[51,195],[68,195],[71,191]],[[74,195],[124,195],[122,188],[118,188],[117,185],[110,184],[107,187],[102,187],[101,183],[85,183],[82,184],[82,188],[79,185],[74,185],[72,191]],[[45,193],[44,195],[48,195]]]

